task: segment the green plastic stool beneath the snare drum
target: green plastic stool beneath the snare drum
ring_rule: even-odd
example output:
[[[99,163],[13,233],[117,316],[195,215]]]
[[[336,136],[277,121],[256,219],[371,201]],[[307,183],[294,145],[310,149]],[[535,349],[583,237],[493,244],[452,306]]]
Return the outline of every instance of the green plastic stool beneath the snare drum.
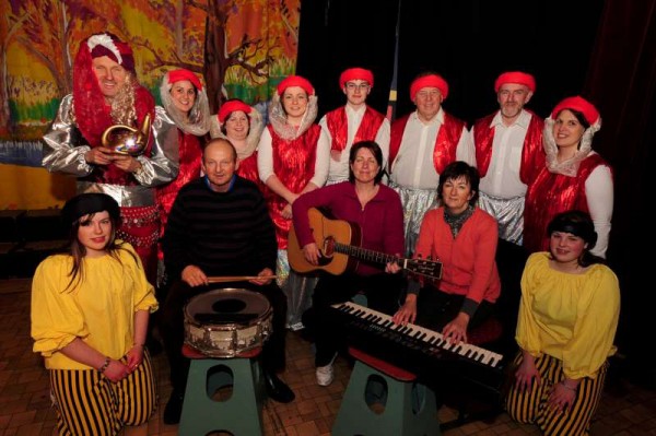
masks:
[[[185,344],[183,354],[191,360],[178,434],[204,436],[210,432],[234,435],[262,434],[263,377],[261,347],[237,357],[208,357]],[[231,386],[224,401],[212,399],[216,389]]]

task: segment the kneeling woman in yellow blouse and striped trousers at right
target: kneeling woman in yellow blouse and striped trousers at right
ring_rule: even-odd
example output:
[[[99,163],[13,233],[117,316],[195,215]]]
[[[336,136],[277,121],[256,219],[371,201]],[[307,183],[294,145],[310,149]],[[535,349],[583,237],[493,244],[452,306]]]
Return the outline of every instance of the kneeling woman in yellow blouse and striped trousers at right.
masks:
[[[587,435],[601,398],[620,314],[618,278],[591,255],[597,234],[581,211],[557,215],[549,252],[522,276],[515,382],[508,414],[546,435]]]

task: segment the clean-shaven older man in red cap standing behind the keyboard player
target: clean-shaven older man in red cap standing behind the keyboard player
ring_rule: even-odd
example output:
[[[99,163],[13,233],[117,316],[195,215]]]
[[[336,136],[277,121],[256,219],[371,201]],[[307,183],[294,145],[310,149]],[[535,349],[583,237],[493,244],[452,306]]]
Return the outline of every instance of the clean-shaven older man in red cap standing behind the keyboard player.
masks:
[[[441,75],[418,75],[410,85],[417,110],[391,125],[389,186],[403,203],[408,256],[414,251],[424,213],[436,204],[440,174],[454,161],[473,165],[465,121],[442,108],[447,96],[448,84]]]

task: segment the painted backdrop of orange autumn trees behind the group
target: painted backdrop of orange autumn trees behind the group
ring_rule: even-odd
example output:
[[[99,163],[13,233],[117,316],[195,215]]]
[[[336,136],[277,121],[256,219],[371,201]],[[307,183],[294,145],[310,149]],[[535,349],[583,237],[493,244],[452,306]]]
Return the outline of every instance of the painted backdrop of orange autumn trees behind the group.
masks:
[[[86,36],[108,31],[128,42],[155,96],[166,71],[187,68],[204,78],[213,111],[232,97],[263,106],[294,72],[300,3],[0,0],[0,210],[51,207],[69,193],[62,186],[72,180],[39,168],[40,137],[71,92]]]

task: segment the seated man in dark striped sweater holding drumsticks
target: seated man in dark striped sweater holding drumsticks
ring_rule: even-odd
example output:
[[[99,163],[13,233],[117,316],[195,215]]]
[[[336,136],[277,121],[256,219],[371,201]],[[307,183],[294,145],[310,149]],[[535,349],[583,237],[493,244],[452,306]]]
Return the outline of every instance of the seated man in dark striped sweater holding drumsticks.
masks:
[[[210,141],[202,156],[204,176],[180,189],[164,232],[164,263],[173,282],[162,306],[162,337],[173,385],[164,411],[167,424],[179,421],[189,368],[189,361],[180,353],[184,306],[212,290],[209,276],[261,276],[220,287],[248,288],[268,298],[273,308],[273,332],[262,350],[267,393],[279,402],[294,400],[294,392],[276,375],[285,364],[286,298],[270,279],[277,256],[273,223],[257,186],[235,174],[237,165],[237,153],[229,140]]]

